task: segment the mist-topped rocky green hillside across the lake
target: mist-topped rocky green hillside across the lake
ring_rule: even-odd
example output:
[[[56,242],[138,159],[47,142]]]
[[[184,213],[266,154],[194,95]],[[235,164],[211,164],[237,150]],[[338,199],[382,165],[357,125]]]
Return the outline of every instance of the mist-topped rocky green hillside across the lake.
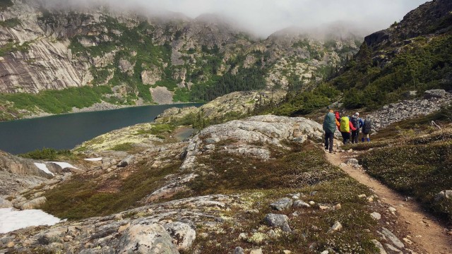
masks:
[[[208,102],[239,90],[299,89],[334,73],[361,39],[284,30],[265,40],[220,17],[54,10],[5,1],[0,117],[111,104]],[[8,4],[9,3],[9,4]],[[57,99],[55,99],[57,98]]]

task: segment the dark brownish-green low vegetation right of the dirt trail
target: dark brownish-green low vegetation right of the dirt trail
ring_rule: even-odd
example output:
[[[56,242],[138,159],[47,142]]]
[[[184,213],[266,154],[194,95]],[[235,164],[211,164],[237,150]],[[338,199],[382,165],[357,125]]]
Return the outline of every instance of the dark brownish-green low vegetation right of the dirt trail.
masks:
[[[367,152],[360,161],[371,176],[452,221],[452,200],[435,201],[437,193],[451,189],[451,155],[451,133],[439,133]]]

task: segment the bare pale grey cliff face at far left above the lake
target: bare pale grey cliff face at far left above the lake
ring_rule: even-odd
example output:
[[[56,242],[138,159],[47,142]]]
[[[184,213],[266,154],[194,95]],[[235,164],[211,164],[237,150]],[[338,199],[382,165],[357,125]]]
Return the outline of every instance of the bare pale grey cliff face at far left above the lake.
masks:
[[[1,20],[20,20],[20,25],[0,27],[0,92],[32,92],[87,85],[89,65],[73,61],[67,40],[48,37],[40,28],[40,11],[15,1]],[[4,21],[7,22],[7,21]]]

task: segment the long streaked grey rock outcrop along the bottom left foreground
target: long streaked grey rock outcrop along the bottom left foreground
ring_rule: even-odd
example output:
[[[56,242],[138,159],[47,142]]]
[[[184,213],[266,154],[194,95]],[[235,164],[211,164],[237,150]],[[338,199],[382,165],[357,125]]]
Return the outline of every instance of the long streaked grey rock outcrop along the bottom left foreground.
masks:
[[[208,195],[148,205],[107,217],[61,222],[39,231],[23,229],[19,234],[27,234],[26,238],[16,231],[1,239],[7,239],[20,251],[39,247],[69,253],[179,253],[194,243],[194,225],[215,228],[221,224],[215,218],[230,207],[242,210],[239,198]]]

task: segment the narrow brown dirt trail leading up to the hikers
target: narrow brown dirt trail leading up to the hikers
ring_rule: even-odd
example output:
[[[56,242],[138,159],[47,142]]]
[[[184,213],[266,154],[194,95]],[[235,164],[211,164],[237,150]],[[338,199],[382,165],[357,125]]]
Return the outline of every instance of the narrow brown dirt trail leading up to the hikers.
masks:
[[[326,158],[331,164],[336,166],[344,163],[340,154],[327,153]],[[361,169],[355,169],[349,165],[340,168],[352,176],[353,179],[359,181],[359,183],[369,186],[383,202],[395,207],[399,214],[399,219],[403,223],[408,224],[408,230],[420,248],[432,254],[452,253],[452,236],[448,236],[444,226],[441,226],[434,217],[424,212],[420,205],[414,201],[405,201],[402,195],[383,186],[383,184],[371,178]]]

